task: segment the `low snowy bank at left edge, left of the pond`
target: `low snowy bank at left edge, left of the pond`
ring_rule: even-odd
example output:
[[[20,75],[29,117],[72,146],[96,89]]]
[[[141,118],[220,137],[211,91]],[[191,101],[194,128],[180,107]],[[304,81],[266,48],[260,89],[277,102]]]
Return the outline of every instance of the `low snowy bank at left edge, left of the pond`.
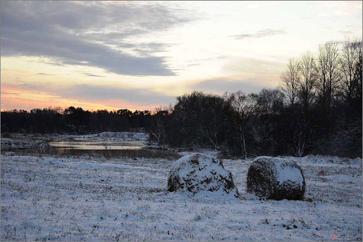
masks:
[[[18,140],[15,138],[1,138],[1,150],[44,148],[49,145],[45,138],[38,137],[37,140]]]

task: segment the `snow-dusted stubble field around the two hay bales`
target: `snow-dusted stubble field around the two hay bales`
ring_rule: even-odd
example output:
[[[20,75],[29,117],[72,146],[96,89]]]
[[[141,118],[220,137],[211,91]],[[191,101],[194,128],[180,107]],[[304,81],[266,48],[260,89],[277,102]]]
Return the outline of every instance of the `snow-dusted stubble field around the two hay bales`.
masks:
[[[362,241],[362,159],[290,157],[304,202],[167,193],[164,159],[12,155],[1,155],[1,241]],[[250,163],[224,160],[240,193]]]

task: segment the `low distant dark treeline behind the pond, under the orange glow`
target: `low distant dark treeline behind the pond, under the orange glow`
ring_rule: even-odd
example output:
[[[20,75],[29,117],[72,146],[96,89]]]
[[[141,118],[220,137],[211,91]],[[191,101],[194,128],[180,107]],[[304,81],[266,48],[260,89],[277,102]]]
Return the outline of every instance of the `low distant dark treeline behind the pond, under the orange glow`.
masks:
[[[129,109],[90,112],[70,106],[1,112],[1,133],[90,134],[150,130],[151,112]]]

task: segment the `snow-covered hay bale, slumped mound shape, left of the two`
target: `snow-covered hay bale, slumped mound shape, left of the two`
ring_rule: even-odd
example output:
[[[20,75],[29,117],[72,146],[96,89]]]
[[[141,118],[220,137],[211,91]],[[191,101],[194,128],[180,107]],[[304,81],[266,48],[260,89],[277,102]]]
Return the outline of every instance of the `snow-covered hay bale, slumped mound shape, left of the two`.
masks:
[[[222,161],[200,153],[181,157],[173,164],[167,190],[207,197],[227,194],[240,197],[232,173],[224,169]]]

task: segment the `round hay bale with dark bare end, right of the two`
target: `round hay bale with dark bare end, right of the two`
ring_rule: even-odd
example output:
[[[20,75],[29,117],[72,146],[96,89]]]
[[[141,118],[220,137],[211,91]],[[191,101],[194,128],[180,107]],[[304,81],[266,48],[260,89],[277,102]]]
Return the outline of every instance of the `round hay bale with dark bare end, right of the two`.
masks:
[[[268,156],[253,160],[247,173],[246,191],[274,200],[303,200],[305,178],[294,161]]]

